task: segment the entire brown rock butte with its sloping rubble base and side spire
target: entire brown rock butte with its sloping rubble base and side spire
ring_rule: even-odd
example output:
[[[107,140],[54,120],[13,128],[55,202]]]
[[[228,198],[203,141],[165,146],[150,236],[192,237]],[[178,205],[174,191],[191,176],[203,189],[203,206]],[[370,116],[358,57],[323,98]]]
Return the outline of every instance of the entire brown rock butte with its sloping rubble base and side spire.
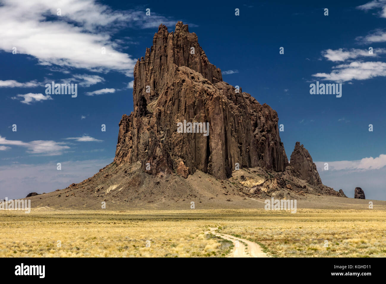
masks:
[[[133,101],[119,123],[114,161],[78,184],[32,197],[34,204],[256,208],[251,199],[342,196],[322,184],[299,142],[289,165],[276,111],[223,82],[182,22],[174,32],[159,26],[137,61]]]

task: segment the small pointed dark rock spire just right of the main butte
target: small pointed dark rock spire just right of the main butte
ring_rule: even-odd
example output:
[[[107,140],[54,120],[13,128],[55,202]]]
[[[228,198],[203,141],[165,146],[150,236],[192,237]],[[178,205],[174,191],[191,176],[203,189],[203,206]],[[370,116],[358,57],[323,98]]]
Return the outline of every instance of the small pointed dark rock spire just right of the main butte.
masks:
[[[320,179],[315,163],[312,162],[310,153],[308,153],[303,145],[300,145],[300,142],[296,142],[295,144],[295,149],[289,160],[289,166],[292,175],[295,177],[306,180],[312,185],[322,184],[322,180]]]

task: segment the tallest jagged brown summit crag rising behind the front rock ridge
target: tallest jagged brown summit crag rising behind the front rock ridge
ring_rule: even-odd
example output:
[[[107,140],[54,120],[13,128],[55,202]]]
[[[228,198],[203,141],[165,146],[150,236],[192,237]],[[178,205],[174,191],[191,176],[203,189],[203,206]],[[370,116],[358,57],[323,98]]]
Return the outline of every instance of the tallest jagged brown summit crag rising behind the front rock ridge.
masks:
[[[165,79],[180,66],[201,73],[210,83],[222,81],[220,68],[209,62],[198,44],[197,35],[189,32],[188,25],[177,22],[175,31],[168,32],[161,24],[154,34],[153,45],[146,48],[145,57],[138,59],[134,68],[135,105],[141,94],[145,95],[147,103],[157,99],[157,94],[165,87]],[[147,86],[149,93],[146,93]]]

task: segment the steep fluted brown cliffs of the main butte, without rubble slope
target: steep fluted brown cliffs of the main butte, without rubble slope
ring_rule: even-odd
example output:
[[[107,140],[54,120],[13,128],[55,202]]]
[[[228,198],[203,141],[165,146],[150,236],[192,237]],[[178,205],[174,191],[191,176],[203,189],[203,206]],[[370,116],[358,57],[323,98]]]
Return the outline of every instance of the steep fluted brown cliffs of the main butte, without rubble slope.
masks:
[[[117,165],[139,161],[152,175],[201,170],[218,179],[229,177],[235,163],[276,172],[288,166],[276,111],[223,82],[182,22],[174,32],[159,26],[137,61],[133,100],[134,111],[119,123]],[[209,122],[208,136],[178,133],[184,120]]]

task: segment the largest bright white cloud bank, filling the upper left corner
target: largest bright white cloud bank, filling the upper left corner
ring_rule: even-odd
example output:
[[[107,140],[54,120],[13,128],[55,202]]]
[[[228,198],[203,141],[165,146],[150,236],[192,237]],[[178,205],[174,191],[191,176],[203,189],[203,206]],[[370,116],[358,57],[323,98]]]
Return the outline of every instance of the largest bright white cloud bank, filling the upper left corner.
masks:
[[[58,7],[62,16],[56,15]],[[132,76],[137,60],[115,50],[110,35],[102,31],[124,24],[129,14],[113,12],[95,0],[3,0],[0,15],[0,49],[4,51],[16,47],[18,53],[36,57],[41,65],[115,70]]]

